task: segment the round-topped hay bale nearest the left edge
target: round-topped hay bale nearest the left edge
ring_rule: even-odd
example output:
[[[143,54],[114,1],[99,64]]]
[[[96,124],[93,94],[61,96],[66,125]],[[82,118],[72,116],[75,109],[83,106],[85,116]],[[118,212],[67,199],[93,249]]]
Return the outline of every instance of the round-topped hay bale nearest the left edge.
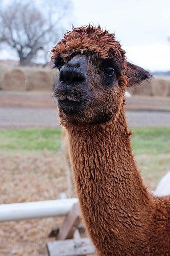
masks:
[[[8,71],[3,79],[4,90],[27,90],[27,79],[25,73],[20,69]]]

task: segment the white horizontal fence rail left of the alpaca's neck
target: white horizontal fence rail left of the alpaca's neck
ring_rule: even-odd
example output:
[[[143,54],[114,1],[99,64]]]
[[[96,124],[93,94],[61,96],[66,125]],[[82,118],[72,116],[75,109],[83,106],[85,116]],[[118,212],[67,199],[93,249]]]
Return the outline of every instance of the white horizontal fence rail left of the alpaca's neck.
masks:
[[[0,205],[0,222],[66,215],[77,198]]]

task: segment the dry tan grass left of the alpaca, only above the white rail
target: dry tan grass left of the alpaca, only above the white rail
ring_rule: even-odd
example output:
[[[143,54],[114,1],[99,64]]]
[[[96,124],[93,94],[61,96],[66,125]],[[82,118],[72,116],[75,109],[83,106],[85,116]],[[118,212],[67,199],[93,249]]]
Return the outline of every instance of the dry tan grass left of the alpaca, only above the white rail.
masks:
[[[1,203],[56,199],[67,189],[65,158],[44,151],[34,155],[1,155]]]

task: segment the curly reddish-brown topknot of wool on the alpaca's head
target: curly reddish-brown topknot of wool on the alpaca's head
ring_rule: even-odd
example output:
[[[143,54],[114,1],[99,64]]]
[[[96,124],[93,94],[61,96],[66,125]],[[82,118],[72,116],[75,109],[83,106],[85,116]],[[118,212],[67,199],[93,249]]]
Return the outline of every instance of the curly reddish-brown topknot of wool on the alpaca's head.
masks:
[[[107,29],[103,30],[100,26],[72,27],[72,31],[67,31],[51,52],[52,61],[57,55],[67,57],[72,53],[88,52],[95,52],[102,59],[114,57],[119,61],[125,61],[125,51],[115,40],[114,33],[108,33]]]

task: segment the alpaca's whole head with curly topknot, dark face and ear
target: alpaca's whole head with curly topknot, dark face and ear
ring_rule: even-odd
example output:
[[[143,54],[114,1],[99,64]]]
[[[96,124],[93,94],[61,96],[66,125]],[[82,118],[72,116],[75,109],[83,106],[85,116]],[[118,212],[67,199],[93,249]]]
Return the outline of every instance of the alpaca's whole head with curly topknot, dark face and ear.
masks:
[[[127,86],[150,74],[127,62],[114,34],[93,26],[73,28],[52,50],[59,69],[54,92],[63,123],[100,124],[116,118]]]

